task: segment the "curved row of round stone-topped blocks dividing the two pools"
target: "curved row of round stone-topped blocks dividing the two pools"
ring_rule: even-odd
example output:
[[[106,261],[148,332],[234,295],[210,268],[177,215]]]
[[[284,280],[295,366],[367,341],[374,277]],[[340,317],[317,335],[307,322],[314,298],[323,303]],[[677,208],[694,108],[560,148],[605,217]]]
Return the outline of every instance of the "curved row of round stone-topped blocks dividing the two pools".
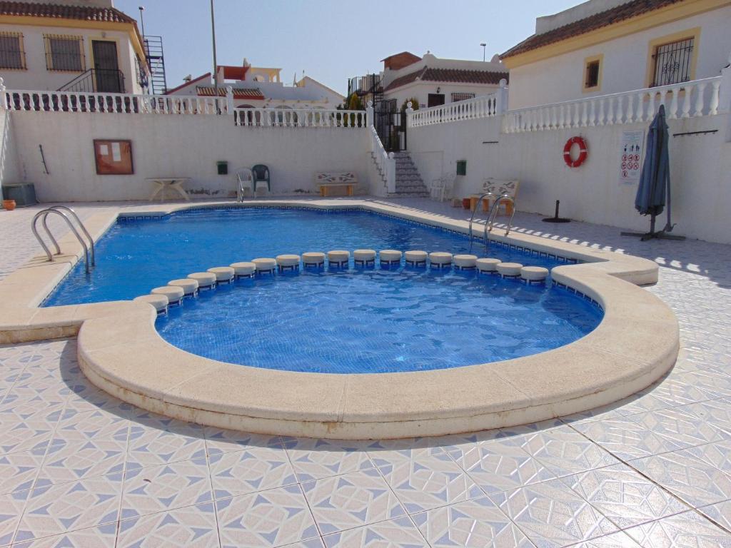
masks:
[[[477,255],[452,255],[445,251],[411,250],[402,254],[395,249],[382,249],[376,254],[373,249],[356,249],[353,251],[353,263],[356,267],[368,267],[376,265],[376,255],[379,257],[381,267],[392,267],[404,263],[410,267],[426,267],[442,270],[452,268],[455,270],[477,270],[478,274],[499,275],[501,278],[518,279],[529,285],[534,283],[545,283],[548,278],[548,268],[524,267],[518,262],[501,262],[500,259],[488,257],[478,258]],[[345,250],[327,251],[327,254],[319,251],[303,253],[300,257],[295,254],[278,255],[276,258],[257,258],[250,262],[235,262],[227,267],[212,267],[206,272],[189,274],[187,278],[179,278],[168,282],[167,286],[156,287],[150,294],[136,297],[134,300],[147,302],[153,306],[157,313],[167,313],[168,306],[180,306],[185,297],[196,297],[200,289],[215,289],[220,283],[232,283],[240,278],[254,278],[256,275],[273,275],[277,270],[300,270],[303,267],[325,267],[333,268],[349,267],[350,252]]]

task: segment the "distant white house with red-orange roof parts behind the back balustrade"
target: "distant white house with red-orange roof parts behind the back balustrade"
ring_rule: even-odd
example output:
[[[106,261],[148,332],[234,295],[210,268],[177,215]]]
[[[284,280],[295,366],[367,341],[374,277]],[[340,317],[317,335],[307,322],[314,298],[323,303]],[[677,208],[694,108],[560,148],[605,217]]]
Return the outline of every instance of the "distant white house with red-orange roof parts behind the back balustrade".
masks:
[[[169,95],[215,96],[216,83],[219,96],[226,94],[226,88],[233,90],[234,106],[267,108],[325,108],[333,109],[344,101],[338,94],[311,77],[296,77],[292,85],[281,81],[281,69],[251,66],[246,59],[241,66],[219,65],[216,79],[210,72],[187,80],[167,91]]]

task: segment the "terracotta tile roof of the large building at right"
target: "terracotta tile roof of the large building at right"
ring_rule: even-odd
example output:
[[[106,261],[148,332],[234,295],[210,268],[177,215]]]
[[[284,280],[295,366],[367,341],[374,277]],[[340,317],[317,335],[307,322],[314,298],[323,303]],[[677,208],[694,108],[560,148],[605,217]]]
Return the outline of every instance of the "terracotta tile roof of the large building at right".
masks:
[[[511,47],[500,58],[504,59],[506,57],[517,56],[519,53],[526,53],[526,51],[535,50],[555,42],[561,42],[561,40],[573,38],[580,34],[596,31],[598,28],[613,25],[614,23],[643,15],[655,9],[670,6],[670,4],[675,4],[679,1],[682,0],[632,0],[626,4],[607,9],[604,12],[599,12],[587,18],[574,21],[573,23],[554,28],[551,31],[534,34],[523,40],[523,42],[520,42],[520,44]]]

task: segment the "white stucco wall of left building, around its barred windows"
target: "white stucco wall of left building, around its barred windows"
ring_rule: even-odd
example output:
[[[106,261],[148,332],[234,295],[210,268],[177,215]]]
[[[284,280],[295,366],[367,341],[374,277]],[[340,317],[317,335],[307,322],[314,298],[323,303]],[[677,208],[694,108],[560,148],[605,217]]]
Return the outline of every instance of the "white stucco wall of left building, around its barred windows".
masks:
[[[126,93],[141,93],[140,83],[135,73],[135,50],[129,34],[122,31],[102,31],[88,28],[66,28],[55,26],[28,26],[0,24],[0,31],[20,32],[23,34],[23,49],[26,52],[26,69],[0,69],[0,76],[8,89],[56,90],[69,83],[82,72],[57,71],[46,69],[45,43],[43,34],[67,34],[83,37],[84,70],[94,68],[91,52],[92,40],[116,42],[119,69],[124,73]],[[105,36],[102,36],[102,32]]]

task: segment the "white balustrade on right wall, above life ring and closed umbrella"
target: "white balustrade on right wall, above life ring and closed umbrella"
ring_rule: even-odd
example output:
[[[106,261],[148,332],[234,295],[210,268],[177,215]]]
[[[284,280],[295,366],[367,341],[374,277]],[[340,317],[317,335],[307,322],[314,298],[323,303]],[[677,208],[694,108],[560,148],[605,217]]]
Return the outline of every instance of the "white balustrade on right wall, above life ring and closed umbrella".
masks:
[[[599,95],[537,107],[509,110],[503,118],[504,133],[537,132],[616,123],[647,122],[661,104],[667,118],[696,118],[719,113],[721,77],[692,80],[656,88]]]

